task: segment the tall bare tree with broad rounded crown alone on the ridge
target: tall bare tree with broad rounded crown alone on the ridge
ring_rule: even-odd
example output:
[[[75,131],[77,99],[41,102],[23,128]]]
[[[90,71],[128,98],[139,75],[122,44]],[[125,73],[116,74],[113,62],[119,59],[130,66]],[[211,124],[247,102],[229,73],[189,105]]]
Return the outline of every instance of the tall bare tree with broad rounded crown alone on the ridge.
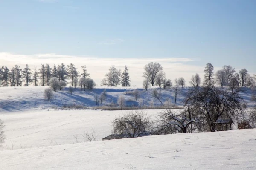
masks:
[[[163,75],[163,67],[160,63],[151,62],[144,66],[143,77],[148,78],[151,85],[154,86],[157,77]]]

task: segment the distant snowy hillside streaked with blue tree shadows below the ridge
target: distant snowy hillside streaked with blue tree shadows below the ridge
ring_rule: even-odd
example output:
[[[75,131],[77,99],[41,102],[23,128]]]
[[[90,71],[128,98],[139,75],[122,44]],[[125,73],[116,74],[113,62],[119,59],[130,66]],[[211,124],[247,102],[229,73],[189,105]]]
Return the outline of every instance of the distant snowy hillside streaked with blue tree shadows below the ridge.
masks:
[[[48,102],[44,99],[43,92],[44,89],[48,87],[0,87],[0,111],[22,111],[22,110],[41,110],[41,109],[50,109],[58,108],[61,109],[63,106],[85,106],[93,107],[96,106],[94,100],[95,95],[100,95],[104,89],[107,91],[106,101],[103,102],[103,105],[116,104],[116,101],[119,95],[124,95],[126,104],[128,106],[138,106],[138,105],[151,105],[161,106],[160,101],[155,99],[152,96],[153,88],[145,89],[136,88],[136,87],[98,87],[90,92],[88,90],[81,91],[80,88],[76,88],[72,95],[68,91],[68,88],[65,88],[62,91],[54,92],[55,97],[52,101]],[[157,88],[157,87],[154,87]],[[189,87],[180,89],[180,94],[177,98],[177,106],[183,105],[183,93],[188,90]],[[140,92],[140,98],[135,101],[132,95],[132,92],[137,89]],[[242,93],[244,100],[248,102],[248,106],[253,104],[250,101],[251,90],[244,88],[246,92]],[[171,89],[161,90],[161,101],[171,101],[171,104],[174,104],[174,94]]]

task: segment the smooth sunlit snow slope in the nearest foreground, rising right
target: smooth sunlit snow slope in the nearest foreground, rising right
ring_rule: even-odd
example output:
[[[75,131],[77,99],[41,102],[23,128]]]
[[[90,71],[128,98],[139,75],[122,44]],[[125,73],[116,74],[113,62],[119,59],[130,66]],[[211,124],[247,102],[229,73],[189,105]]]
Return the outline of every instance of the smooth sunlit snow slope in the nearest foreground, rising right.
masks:
[[[0,169],[255,170],[256,129],[0,151]]]

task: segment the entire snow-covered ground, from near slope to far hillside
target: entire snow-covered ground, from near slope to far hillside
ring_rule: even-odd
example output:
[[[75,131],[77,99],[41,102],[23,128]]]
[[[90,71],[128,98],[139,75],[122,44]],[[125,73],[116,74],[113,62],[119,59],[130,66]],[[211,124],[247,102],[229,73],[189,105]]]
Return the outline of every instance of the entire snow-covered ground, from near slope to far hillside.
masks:
[[[77,89],[73,95],[65,89],[56,92],[52,102],[43,98],[44,89],[0,88],[0,119],[6,125],[0,169],[256,169],[256,129],[102,141],[111,134],[113,118],[128,111],[61,110],[61,106],[94,106],[94,95],[103,88],[92,93]],[[107,102],[115,102],[119,95],[134,89],[108,88]],[[139,90],[144,103],[160,105],[150,91]],[[164,100],[173,97],[170,91],[162,94]],[[243,97],[250,101],[250,93]],[[137,103],[131,95],[125,98]],[[181,101],[182,96],[178,105]],[[147,110],[152,118],[160,111]],[[92,129],[99,141],[86,142],[82,135]]]

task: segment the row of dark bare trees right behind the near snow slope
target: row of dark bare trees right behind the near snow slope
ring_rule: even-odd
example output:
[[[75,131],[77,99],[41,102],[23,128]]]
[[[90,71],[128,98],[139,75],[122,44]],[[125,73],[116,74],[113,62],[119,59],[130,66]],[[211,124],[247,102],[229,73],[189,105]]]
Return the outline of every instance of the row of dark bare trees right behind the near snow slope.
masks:
[[[152,120],[143,110],[131,111],[113,120],[113,131],[121,138],[145,134],[214,132],[219,130],[218,122],[225,120],[238,122],[239,128],[255,128],[256,109],[246,108],[240,92],[241,88],[222,90],[212,83],[200,88],[194,86],[184,94],[184,109],[180,112],[166,107]]]

